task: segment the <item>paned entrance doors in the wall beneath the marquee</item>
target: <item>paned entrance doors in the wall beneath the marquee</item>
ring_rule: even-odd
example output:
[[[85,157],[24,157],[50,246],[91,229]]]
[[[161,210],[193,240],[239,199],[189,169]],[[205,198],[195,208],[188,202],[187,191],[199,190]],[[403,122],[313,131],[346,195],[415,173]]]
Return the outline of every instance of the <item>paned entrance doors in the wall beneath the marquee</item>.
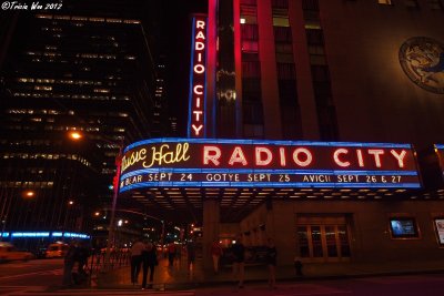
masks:
[[[296,225],[300,255],[311,262],[349,262],[345,217],[300,217]]]

